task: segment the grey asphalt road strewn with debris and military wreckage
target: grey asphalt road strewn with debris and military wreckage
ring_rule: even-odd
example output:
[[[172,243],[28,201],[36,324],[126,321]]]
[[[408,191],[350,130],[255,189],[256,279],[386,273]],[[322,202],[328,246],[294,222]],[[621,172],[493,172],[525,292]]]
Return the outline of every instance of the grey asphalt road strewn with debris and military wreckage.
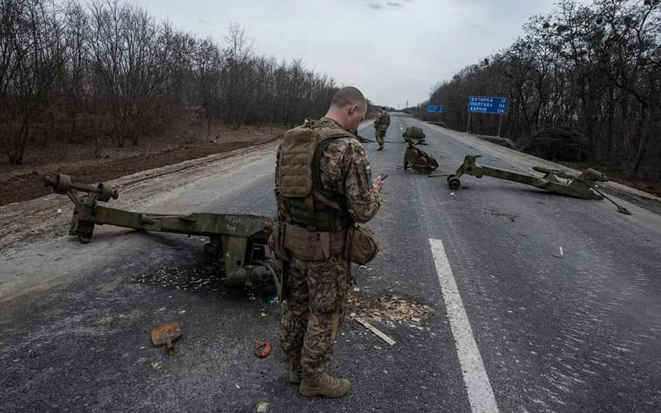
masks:
[[[381,252],[356,269],[351,305],[430,313],[375,320],[392,346],[345,320],[332,372],[351,380],[349,395],[302,398],[279,350],[254,357],[257,342],[277,341],[273,291],[208,278],[204,240],[100,227],[91,244],[60,235],[0,253],[0,411],[658,412],[661,217],[493,178],[451,191],[401,169],[408,125],[425,130],[439,172],[468,153],[518,171],[547,163],[391,119],[385,150],[365,144],[389,176],[369,224]],[[274,151],[144,182],[116,205],[273,215]],[[177,274],[211,281],[176,289]],[[148,332],[173,320],[184,337],[169,357]]]

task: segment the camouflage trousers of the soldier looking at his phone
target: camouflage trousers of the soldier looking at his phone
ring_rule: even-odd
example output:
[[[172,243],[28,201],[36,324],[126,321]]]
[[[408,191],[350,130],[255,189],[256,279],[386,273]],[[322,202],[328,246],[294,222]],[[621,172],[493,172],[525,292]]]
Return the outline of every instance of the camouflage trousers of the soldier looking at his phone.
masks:
[[[333,313],[337,322],[351,286],[351,263],[343,257],[293,258],[286,275],[280,346],[290,365],[300,362],[303,377],[316,378],[333,361]]]

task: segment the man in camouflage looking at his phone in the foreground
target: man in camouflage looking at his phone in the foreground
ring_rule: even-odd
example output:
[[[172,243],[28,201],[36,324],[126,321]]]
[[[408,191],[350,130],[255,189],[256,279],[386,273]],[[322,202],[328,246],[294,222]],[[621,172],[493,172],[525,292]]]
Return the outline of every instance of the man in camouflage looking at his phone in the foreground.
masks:
[[[283,264],[280,345],[289,382],[303,396],[340,397],[350,387],[328,368],[351,286],[354,249],[347,242],[356,244],[356,222],[377,214],[383,185],[372,180],[365,149],[349,132],[366,109],[363,93],[342,88],[324,118],[287,131],[278,148],[278,215],[269,247]]]

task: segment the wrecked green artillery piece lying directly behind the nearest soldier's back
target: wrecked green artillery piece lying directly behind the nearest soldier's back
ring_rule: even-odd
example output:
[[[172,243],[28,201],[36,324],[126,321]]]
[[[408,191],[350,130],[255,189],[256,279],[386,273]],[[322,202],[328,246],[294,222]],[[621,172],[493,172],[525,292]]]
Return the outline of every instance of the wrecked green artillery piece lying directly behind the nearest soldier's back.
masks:
[[[259,215],[193,213],[162,215],[130,212],[100,205],[119,191],[107,184],[81,185],[62,173],[46,178],[45,185],[56,194],[65,194],[75,204],[69,235],[80,242],[91,242],[96,225],[114,225],[140,231],[157,231],[209,237],[204,251],[212,254],[225,271],[227,285],[254,286],[273,281],[278,276],[268,263],[266,251],[271,235],[271,219]]]

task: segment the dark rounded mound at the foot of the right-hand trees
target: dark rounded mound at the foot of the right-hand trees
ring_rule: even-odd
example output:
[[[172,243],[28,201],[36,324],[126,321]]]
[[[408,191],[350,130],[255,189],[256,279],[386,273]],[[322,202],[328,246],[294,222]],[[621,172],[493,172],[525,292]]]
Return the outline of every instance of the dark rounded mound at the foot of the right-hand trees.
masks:
[[[590,138],[565,127],[541,126],[524,147],[524,152],[545,159],[581,162],[590,156]]]

